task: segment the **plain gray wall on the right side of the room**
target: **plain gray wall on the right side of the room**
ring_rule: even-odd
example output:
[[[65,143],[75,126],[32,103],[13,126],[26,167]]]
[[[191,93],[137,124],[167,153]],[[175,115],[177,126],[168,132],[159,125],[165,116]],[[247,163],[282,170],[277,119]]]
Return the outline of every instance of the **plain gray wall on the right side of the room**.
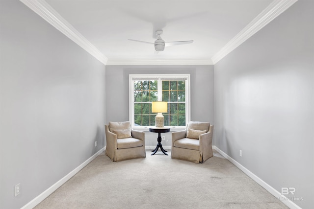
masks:
[[[304,209],[314,208],[313,7],[297,1],[214,65],[215,145],[277,191],[295,187],[287,197]]]

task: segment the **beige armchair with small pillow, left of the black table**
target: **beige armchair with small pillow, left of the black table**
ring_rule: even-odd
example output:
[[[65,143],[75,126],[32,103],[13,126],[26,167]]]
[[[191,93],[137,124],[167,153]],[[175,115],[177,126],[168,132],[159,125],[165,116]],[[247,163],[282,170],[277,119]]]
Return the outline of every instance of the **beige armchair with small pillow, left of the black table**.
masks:
[[[130,121],[105,125],[106,151],[111,161],[145,158],[145,133],[131,129]]]

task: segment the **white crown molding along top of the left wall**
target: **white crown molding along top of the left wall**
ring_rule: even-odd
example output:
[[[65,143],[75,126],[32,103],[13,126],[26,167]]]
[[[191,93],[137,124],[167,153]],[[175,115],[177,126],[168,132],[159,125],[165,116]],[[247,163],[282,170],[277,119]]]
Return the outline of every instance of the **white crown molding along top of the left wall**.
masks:
[[[108,58],[80,34],[70,23],[57,13],[45,0],[20,0],[48,23],[82,47],[104,65]]]

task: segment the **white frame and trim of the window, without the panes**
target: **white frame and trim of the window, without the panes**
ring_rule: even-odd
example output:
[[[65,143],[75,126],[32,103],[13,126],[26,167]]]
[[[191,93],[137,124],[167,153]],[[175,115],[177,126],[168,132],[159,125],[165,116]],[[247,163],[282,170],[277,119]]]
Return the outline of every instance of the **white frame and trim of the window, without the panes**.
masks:
[[[148,131],[149,126],[134,126],[134,80],[185,80],[185,124],[191,118],[190,108],[190,74],[129,74],[129,118],[131,128],[141,131]],[[161,82],[158,82],[158,89],[161,89]],[[161,101],[161,91],[158,91],[157,100]],[[171,130],[184,130],[186,126],[170,126]]]

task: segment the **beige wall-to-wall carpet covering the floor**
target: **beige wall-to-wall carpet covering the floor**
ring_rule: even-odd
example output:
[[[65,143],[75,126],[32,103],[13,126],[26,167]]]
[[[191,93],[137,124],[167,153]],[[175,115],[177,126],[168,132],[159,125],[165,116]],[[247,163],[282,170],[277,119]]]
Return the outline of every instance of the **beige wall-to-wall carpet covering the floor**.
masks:
[[[35,209],[287,209],[214,151],[204,164],[157,152],[111,162],[105,153]]]

